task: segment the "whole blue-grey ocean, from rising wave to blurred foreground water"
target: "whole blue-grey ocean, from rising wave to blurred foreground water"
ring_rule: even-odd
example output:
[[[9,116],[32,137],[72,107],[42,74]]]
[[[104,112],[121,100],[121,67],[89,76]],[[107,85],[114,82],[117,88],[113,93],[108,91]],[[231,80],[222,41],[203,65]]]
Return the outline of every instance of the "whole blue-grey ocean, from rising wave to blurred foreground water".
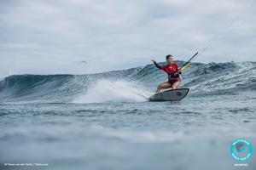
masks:
[[[186,98],[148,102],[166,81],[154,65],[5,77],[0,169],[256,169],[255,153],[230,154],[236,139],[256,148],[256,63],[193,63],[182,78]]]

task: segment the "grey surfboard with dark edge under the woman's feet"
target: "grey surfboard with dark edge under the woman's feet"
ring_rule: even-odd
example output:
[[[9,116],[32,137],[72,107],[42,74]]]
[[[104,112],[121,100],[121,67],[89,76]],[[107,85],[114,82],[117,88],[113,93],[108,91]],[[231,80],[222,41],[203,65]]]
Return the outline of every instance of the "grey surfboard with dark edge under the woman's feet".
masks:
[[[178,101],[186,97],[189,93],[189,88],[177,88],[166,90],[158,94],[154,94],[148,98],[148,101]]]

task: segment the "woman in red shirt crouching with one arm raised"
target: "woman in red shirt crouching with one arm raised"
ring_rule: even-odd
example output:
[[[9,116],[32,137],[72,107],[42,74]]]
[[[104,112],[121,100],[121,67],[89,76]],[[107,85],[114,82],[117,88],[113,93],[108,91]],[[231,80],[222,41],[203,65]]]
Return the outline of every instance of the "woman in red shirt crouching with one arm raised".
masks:
[[[160,93],[160,89],[162,88],[172,88],[177,89],[181,79],[179,77],[180,68],[178,67],[177,63],[173,62],[174,57],[172,55],[166,55],[167,65],[159,65],[156,63],[154,59],[154,65],[162,71],[166,71],[168,74],[168,82],[161,83],[157,89],[156,93]]]

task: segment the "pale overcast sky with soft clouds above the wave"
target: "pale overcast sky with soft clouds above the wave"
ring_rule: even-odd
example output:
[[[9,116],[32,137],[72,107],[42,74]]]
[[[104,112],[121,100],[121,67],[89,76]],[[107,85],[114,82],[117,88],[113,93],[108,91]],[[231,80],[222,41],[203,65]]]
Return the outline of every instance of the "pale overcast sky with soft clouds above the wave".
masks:
[[[207,44],[196,62],[256,61],[255,37],[255,0],[0,0],[0,77],[186,60]]]

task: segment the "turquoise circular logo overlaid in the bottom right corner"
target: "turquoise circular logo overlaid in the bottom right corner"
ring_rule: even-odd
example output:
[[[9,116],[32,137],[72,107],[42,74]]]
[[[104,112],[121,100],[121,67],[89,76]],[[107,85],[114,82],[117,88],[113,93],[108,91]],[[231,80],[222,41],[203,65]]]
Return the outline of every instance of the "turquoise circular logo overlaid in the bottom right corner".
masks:
[[[253,154],[253,146],[246,139],[236,139],[230,145],[230,154],[238,161],[245,161]]]

